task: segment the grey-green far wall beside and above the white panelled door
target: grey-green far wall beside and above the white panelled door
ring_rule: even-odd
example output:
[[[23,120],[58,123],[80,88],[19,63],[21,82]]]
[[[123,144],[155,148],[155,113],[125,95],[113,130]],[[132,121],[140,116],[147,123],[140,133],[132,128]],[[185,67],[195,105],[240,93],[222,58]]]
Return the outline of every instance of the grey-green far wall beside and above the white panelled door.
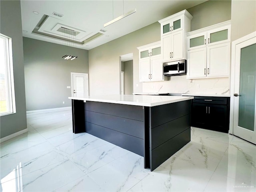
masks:
[[[27,111],[71,106],[70,73],[89,72],[88,50],[26,37],[23,47]],[[78,58],[64,60],[66,54]]]

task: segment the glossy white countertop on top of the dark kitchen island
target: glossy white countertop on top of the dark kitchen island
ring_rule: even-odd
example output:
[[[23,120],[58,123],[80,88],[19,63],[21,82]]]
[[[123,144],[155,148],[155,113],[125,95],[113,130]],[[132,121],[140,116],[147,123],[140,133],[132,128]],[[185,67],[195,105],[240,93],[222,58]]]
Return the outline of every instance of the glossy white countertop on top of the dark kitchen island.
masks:
[[[117,103],[136,106],[153,107],[193,99],[193,96],[158,96],[158,95],[101,95],[88,98],[69,97],[74,100]]]

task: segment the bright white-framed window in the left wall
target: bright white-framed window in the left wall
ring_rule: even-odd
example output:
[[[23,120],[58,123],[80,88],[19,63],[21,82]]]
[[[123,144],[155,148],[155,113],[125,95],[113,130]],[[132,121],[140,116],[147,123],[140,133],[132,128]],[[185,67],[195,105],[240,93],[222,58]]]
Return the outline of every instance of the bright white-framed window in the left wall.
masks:
[[[12,39],[0,34],[0,116],[15,112]]]

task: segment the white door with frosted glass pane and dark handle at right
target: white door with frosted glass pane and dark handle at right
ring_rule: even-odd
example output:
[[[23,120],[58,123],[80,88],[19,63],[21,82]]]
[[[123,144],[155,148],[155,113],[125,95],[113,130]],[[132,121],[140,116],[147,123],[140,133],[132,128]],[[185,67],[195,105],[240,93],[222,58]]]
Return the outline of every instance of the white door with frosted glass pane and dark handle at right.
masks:
[[[256,37],[236,45],[233,134],[256,144]]]

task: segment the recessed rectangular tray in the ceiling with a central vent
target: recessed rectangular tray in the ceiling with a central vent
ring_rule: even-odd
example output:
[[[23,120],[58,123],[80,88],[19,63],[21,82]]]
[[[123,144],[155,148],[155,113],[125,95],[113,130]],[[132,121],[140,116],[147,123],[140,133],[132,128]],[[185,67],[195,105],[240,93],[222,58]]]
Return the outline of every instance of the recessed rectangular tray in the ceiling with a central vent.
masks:
[[[62,24],[60,19],[47,15],[42,17],[32,33],[81,45],[91,42],[92,40],[103,35],[103,33],[100,32],[80,30],[78,28]]]

